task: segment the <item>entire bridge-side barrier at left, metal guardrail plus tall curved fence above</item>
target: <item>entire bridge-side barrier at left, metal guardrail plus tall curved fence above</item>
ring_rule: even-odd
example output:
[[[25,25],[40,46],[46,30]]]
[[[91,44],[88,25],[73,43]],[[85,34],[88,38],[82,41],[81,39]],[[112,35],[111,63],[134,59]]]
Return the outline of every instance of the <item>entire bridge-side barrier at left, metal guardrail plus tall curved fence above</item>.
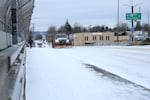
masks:
[[[0,100],[25,100],[25,42],[20,42],[28,40],[33,8],[34,0],[0,0]]]

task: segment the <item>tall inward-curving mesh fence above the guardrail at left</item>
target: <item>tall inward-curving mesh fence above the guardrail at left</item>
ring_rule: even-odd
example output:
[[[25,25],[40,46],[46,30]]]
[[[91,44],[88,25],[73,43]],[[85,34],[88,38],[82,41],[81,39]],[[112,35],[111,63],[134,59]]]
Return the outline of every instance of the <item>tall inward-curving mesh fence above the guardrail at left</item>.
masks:
[[[0,50],[27,39],[33,7],[34,0],[0,0]]]

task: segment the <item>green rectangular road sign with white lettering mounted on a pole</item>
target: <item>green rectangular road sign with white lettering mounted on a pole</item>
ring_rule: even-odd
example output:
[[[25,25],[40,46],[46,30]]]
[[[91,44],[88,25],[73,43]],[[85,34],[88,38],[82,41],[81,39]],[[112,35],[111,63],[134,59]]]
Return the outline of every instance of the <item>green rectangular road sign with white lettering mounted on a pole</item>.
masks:
[[[141,13],[126,13],[126,20],[141,20]]]

